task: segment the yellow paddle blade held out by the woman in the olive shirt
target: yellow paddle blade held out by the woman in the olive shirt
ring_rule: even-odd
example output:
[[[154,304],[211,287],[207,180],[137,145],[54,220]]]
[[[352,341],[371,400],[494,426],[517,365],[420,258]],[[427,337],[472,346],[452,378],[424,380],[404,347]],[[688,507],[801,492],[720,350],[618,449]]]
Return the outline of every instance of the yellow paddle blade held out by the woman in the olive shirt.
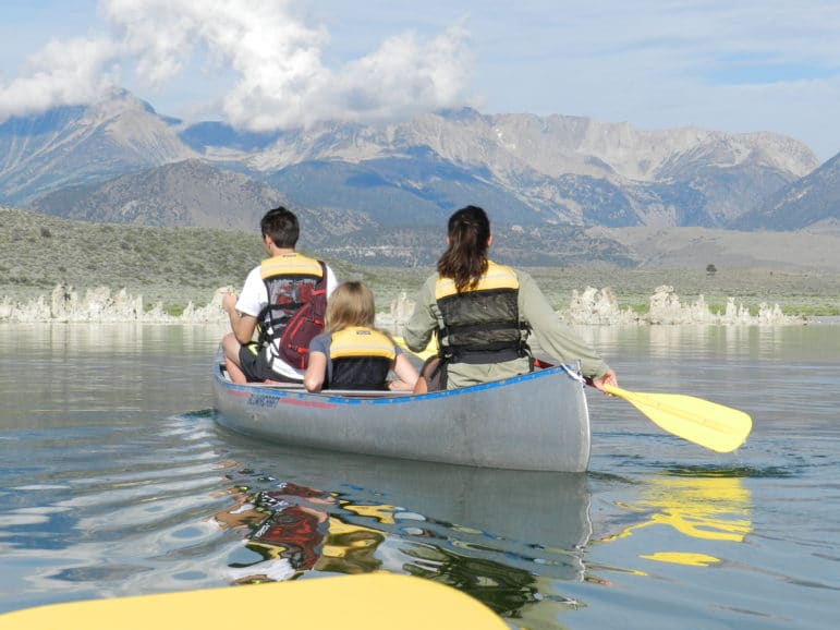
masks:
[[[640,393],[607,386],[612,396],[623,398],[665,431],[717,452],[741,446],[753,420],[743,411],[681,393]]]

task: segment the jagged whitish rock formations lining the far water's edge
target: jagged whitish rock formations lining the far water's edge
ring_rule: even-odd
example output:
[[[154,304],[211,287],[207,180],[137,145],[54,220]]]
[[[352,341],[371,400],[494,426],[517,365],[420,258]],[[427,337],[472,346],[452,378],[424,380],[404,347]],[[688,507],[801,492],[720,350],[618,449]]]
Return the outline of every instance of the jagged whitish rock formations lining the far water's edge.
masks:
[[[180,315],[168,314],[162,304],[147,308],[141,295],[131,295],[123,289],[112,294],[106,287],[87,289],[84,294],[72,287],[57,286],[50,295],[35,300],[0,300],[1,322],[44,323],[118,323],[137,322],[146,324],[224,324],[227,315],[221,308],[222,295],[232,290],[217,289],[204,306],[187,304]],[[377,315],[377,325],[399,332],[414,310],[414,303],[402,293],[390,304],[388,312]],[[706,304],[703,295],[690,304],[683,304],[672,287],[661,286],[649,299],[646,313],[621,308],[610,289],[587,287],[573,291],[567,308],[558,313],[570,324],[616,326],[616,325],[723,325],[723,326],[777,326],[806,324],[802,316],[784,315],[778,304],[762,303],[757,314],[751,314],[734,299],[727,301],[726,308],[715,311]]]

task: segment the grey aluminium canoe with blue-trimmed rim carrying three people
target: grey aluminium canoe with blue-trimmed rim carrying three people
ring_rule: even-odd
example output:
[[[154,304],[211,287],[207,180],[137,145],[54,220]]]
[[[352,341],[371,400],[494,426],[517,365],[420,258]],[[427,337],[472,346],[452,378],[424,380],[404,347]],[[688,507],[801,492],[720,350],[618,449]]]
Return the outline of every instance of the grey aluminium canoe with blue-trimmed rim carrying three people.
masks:
[[[415,396],[236,385],[214,363],[216,421],[260,440],[409,460],[513,470],[584,472],[589,413],[576,371]]]

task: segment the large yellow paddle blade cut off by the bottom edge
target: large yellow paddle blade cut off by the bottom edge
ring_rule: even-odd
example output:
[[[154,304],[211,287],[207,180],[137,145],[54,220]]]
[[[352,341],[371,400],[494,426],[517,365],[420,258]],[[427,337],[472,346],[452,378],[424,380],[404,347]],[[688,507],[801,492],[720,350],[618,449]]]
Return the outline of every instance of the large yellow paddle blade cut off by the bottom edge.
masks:
[[[477,599],[437,582],[366,573],[52,604],[0,615],[3,630],[193,630],[254,627],[342,630],[508,630]],[[272,623],[269,623],[269,626]]]

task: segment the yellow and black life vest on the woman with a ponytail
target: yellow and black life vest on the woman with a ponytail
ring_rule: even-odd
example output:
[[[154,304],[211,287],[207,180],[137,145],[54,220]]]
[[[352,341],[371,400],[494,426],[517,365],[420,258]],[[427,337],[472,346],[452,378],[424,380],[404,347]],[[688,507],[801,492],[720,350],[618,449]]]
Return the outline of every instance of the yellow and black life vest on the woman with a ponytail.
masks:
[[[519,317],[519,279],[510,267],[488,263],[478,283],[459,293],[438,278],[435,299],[442,317],[439,346],[448,363],[502,363],[528,355]]]

